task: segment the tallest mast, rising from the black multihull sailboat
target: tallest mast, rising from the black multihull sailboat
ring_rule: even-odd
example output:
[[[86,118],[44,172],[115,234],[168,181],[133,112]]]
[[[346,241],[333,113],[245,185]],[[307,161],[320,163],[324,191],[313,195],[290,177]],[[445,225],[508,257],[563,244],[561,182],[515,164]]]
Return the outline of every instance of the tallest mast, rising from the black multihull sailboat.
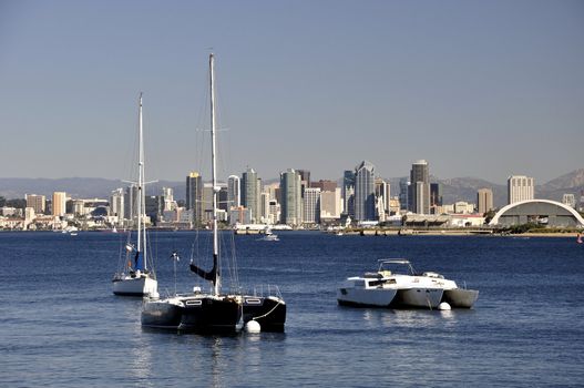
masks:
[[[215,58],[213,53],[209,54],[209,80],[211,80],[211,175],[213,184],[213,264],[217,268],[215,270],[214,294],[218,295],[221,290],[221,270],[219,270],[219,244],[217,231],[217,172],[215,162]]]

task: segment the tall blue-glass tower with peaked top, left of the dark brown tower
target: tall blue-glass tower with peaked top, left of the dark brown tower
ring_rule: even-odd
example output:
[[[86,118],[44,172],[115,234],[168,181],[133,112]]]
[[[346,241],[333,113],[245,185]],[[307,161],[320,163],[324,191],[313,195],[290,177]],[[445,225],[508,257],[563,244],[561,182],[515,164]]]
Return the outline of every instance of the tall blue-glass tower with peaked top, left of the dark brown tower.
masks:
[[[375,166],[362,161],[355,167],[355,219],[376,219]]]

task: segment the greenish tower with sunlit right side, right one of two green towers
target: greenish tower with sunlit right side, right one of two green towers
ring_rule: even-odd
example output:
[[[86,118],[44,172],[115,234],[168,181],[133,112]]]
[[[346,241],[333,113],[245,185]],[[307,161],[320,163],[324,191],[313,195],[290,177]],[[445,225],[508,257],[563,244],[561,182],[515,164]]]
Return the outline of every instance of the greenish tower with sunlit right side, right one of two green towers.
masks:
[[[303,196],[300,174],[294,169],[280,173],[280,218],[283,224],[303,223]]]

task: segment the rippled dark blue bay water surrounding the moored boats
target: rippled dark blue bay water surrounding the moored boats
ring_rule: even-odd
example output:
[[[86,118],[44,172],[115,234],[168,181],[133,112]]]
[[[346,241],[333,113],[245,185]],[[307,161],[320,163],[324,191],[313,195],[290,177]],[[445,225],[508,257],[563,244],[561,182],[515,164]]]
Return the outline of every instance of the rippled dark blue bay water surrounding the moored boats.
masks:
[[[277,284],[285,334],[174,335],[115,297],[122,234],[0,233],[2,387],[578,386],[584,246],[573,238],[236,236],[239,282]],[[197,284],[192,233],[154,233],[161,294]],[[337,285],[409,258],[480,289],[471,310],[337,306]],[[226,282],[226,280],[225,280]]]

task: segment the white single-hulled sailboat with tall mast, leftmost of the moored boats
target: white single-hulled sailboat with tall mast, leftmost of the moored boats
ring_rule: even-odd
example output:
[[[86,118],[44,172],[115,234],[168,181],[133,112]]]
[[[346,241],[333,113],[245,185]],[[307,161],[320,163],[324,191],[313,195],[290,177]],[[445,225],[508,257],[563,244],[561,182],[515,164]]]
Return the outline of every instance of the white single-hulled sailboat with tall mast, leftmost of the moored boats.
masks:
[[[113,279],[113,293],[115,295],[127,296],[148,296],[157,293],[158,283],[155,273],[150,270],[147,256],[147,241],[146,241],[146,206],[144,194],[144,142],[142,129],[142,93],[140,93],[139,102],[139,157],[137,170],[139,177],[135,184],[137,185],[137,227],[136,227],[136,244],[134,245],[129,235],[129,242],[125,245],[126,255],[122,269],[119,270]]]

